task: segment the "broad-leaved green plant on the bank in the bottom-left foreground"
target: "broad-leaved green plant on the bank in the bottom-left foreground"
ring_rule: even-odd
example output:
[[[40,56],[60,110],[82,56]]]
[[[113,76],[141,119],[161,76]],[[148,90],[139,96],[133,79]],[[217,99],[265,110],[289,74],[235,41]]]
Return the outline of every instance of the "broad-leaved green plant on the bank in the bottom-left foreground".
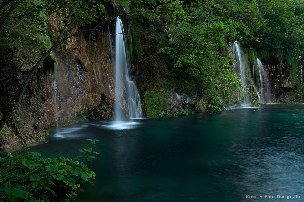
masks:
[[[0,158],[0,196],[6,195],[11,201],[50,201],[51,194],[57,196],[63,190],[74,198],[75,190],[82,183],[92,183],[96,175],[85,161],[95,159],[91,154],[98,153],[92,147],[96,147],[98,140],[87,140],[90,144],[80,149],[82,155],[74,159],[40,158],[40,153],[29,148]]]

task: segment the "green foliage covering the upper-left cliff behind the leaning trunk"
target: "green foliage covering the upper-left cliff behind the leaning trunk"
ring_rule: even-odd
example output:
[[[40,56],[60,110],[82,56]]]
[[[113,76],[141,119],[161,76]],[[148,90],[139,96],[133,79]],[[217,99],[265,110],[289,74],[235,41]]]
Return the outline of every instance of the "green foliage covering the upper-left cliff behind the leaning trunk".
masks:
[[[11,7],[12,1],[0,1],[0,19],[3,19]],[[53,39],[49,26],[48,16],[56,13],[60,19],[61,30],[67,18],[68,11],[74,6],[75,1],[54,0],[48,1],[16,1],[17,5],[5,23],[0,33],[0,47],[9,49],[14,54],[13,60],[25,64],[35,64],[41,55],[52,46],[50,39]],[[81,1],[74,10],[71,22],[80,26],[96,22],[96,18],[107,18],[105,7],[101,2],[92,0]],[[2,22],[2,20],[1,20]],[[59,31],[60,31],[59,30]],[[55,37],[55,39],[57,39]],[[66,58],[65,44],[60,45],[60,51]],[[5,52],[5,51],[4,51]],[[54,54],[50,54],[55,58]]]

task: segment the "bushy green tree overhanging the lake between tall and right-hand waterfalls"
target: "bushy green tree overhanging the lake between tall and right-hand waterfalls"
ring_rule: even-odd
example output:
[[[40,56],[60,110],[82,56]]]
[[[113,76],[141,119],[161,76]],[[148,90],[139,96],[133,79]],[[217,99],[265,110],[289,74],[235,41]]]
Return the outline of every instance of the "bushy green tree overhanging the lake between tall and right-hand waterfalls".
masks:
[[[150,17],[154,30],[165,31],[167,37],[157,47],[160,58],[168,65],[168,80],[190,96],[208,96],[208,107],[220,111],[233,101],[233,91],[240,91],[240,79],[228,71],[233,64],[231,55],[220,51],[227,45],[224,31],[236,28],[230,28],[212,14],[215,6],[215,1],[161,1],[136,17],[142,22],[148,22]],[[142,26],[148,27],[147,23]]]

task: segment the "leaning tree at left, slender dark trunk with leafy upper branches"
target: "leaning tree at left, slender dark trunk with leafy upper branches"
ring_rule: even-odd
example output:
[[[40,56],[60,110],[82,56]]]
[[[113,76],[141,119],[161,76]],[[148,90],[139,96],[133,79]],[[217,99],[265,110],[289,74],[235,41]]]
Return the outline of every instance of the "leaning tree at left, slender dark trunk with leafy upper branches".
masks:
[[[96,6],[93,5],[90,7],[90,3],[92,2],[91,0],[88,1],[83,1],[81,2],[82,8],[85,9],[80,9],[78,4],[80,0],[77,1],[57,1],[54,0],[54,4],[50,4],[49,1],[41,1],[40,3],[38,1],[26,1],[26,0],[20,0],[18,2],[15,2],[15,0],[7,0],[0,4],[0,7],[5,7],[8,6],[9,2],[11,2],[10,8],[7,11],[6,15],[4,18],[2,18],[2,22],[0,25],[0,31],[2,32],[1,39],[5,38],[7,40],[16,37],[20,38],[21,40],[26,37],[27,35],[14,31],[14,30],[5,30],[5,25],[7,25],[7,22],[9,19],[19,19],[23,21],[23,29],[26,29],[28,26],[32,28],[32,26],[36,27],[36,31],[40,31],[44,33],[47,36],[50,36],[50,33],[45,29],[46,23],[47,23],[47,18],[45,18],[43,15],[50,15],[52,13],[57,13],[60,17],[65,18],[65,23],[63,28],[60,31],[60,34],[57,37],[57,40],[54,42],[51,48],[49,48],[41,57],[40,59],[36,62],[36,64],[33,66],[31,71],[29,72],[27,78],[25,79],[23,86],[16,98],[16,101],[13,102],[10,107],[4,112],[1,120],[0,120],[0,130],[5,125],[5,122],[9,118],[10,114],[19,106],[19,103],[22,99],[22,96],[26,90],[26,87],[37,70],[37,68],[41,65],[41,63],[44,61],[44,59],[63,41],[61,40],[65,30],[67,29],[69,22],[72,18],[72,15],[74,14],[74,22],[79,22],[80,25],[85,25],[88,24],[90,21],[96,21],[95,17],[96,14],[94,11],[99,11],[100,13],[104,14],[105,13],[105,8],[102,6],[102,4],[97,4]],[[36,4],[37,3],[37,4]],[[18,7],[19,6],[19,7]],[[59,7],[60,6],[60,7]],[[69,12],[67,15],[66,14],[66,8],[69,8]],[[90,8],[90,9],[88,9]],[[92,8],[92,9],[91,9]],[[18,10],[19,9],[19,10]],[[20,12],[20,9],[23,10],[23,12]],[[14,13],[16,11],[16,13]],[[21,14],[22,13],[22,14]],[[34,16],[32,16],[34,14]],[[34,18],[30,18],[30,17]],[[3,34],[3,30],[5,30],[5,34]],[[0,34],[1,34],[0,32]],[[31,39],[31,37],[29,37]],[[35,40],[35,39],[33,39]],[[2,45],[7,45],[7,43],[2,43]]]

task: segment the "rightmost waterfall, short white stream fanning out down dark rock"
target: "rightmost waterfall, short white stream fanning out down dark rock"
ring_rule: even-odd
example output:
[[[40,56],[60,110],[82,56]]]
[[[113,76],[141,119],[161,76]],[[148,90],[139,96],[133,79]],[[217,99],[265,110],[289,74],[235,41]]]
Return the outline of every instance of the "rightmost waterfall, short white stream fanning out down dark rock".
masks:
[[[264,66],[257,58],[257,66],[259,67],[259,74],[260,74],[260,89],[263,88],[263,92],[261,93],[261,101],[260,102],[271,102],[274,99],[274,94],[271,90],[271,85],[269,84],[268,81],[268,76],[265,72]]]

